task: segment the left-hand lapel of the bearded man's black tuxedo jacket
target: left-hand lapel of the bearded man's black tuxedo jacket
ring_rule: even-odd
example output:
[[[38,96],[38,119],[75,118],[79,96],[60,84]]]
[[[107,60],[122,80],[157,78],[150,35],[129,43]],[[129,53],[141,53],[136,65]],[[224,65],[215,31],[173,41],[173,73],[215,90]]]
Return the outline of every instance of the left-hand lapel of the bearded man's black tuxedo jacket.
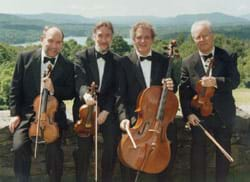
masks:
[[[97,65],[97,60],[95,56],[95,49],[94,47],[89,49],[89,54],[88,54],[88,62],[89,62],[89,68],[91,70],[91,73],[93,75],[93,78],[96,82],[97,85],[100,85],[100,80],[99,80],[99,71],[98,71],[98,65]]]

